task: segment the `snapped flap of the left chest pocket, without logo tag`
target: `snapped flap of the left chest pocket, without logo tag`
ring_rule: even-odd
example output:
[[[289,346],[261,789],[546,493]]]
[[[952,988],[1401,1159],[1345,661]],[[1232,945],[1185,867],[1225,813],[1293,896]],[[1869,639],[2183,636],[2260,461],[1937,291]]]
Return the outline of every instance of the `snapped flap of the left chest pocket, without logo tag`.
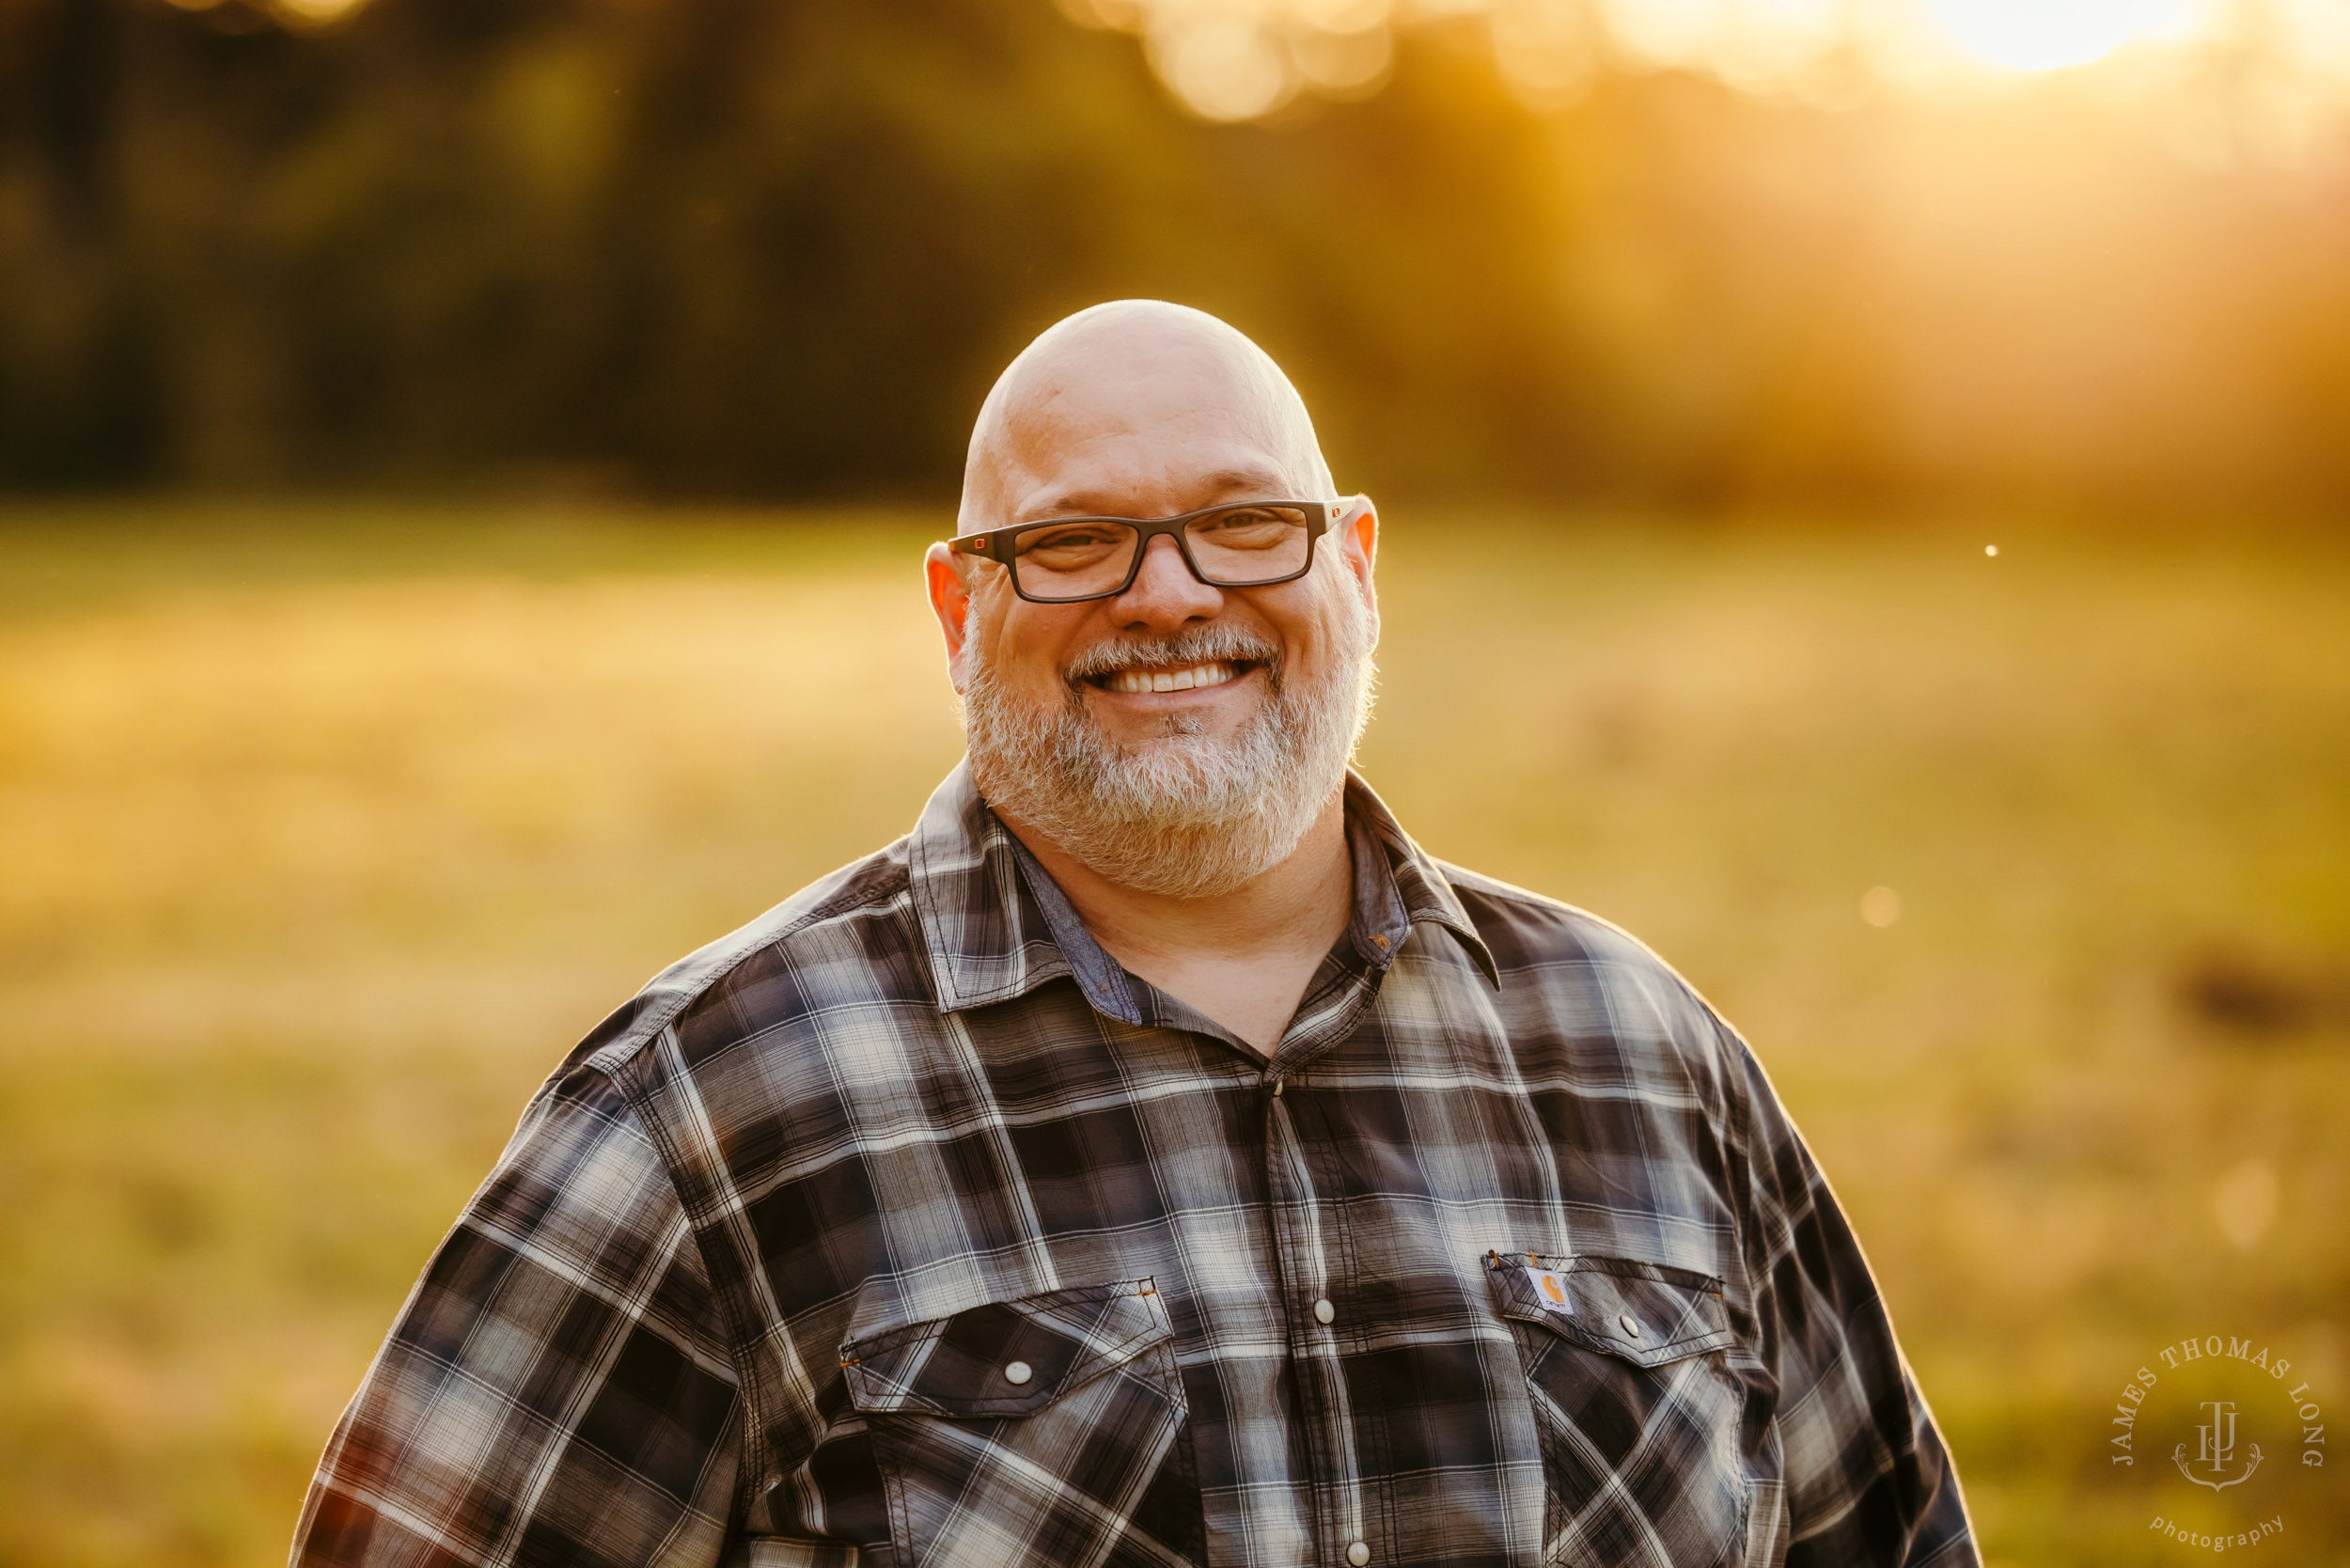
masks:
[[[1149,1279],[968,1307],[841,1345],[867,1415],[1027,1415],[1175,1335]]]

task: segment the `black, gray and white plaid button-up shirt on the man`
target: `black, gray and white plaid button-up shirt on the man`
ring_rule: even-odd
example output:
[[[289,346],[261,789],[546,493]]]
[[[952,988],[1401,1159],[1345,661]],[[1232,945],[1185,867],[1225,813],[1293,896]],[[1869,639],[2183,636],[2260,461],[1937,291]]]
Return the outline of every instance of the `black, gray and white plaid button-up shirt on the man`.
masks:
[[[1267,1060],[956,769],[540,1088],[294,1561],[1974,1563],[1760,1065],[1349,780]]]

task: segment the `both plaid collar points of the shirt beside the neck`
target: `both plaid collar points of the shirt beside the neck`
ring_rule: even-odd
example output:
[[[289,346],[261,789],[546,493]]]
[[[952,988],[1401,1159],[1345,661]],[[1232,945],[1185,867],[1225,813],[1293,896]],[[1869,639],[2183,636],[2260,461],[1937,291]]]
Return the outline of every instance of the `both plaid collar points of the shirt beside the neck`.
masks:
[[[1347,773],[1347,832],[1354,844],[1347,933],[1361,959],[1386,969],[1410,929],[1426,922],[1450,931],[1488,985],[1499,985],[1492,954],[1459,893],[1354,771]],[[1043,865],[987,809],[968,762],[959,762],[924,806],[909,839],[907,875],[945,1011],[1008,1001],[1072,976],[1097,1011],[1144,1023],[1126,971],[1093,940]]]

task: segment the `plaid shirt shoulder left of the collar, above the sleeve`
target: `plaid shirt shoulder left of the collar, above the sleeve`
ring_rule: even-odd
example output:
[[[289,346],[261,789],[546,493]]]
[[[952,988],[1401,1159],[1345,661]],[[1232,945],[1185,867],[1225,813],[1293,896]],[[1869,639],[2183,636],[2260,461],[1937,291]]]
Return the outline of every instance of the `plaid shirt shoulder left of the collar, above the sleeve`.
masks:
[[[818,877],[653,976],[573,1046],[557,1081],[573,1070],[620,1077],[672,1027],[682,1037],[743,1037],[879,990],[921,990],[905,896],[905,839]]]

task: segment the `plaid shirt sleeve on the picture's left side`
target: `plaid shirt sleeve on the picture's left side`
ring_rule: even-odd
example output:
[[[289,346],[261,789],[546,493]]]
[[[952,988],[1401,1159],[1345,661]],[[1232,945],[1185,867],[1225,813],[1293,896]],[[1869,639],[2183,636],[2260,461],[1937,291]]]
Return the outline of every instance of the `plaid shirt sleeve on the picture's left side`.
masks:
[[[719,1561],[733,1361],[677,1190],[571,1067],[522,1117],[343,1413],[294,1568]]]

